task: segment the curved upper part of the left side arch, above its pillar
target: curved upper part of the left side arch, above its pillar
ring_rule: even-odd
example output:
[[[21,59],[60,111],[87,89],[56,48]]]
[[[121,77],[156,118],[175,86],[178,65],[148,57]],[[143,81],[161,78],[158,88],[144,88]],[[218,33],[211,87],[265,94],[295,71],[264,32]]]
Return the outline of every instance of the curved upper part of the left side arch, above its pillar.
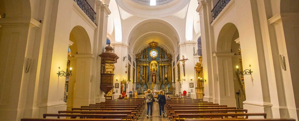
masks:
[[[82,26],[75,26],[70,32],[70,41],[74,42],[70,46],[77,54],[91,54],[91,43],[86,30]]]

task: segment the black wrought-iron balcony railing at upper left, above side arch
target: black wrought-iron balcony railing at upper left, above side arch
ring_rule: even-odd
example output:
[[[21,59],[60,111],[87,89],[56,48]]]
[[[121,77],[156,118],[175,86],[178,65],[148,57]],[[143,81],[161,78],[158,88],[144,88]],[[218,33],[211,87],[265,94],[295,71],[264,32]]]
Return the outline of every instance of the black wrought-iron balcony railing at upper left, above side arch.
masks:
[[[97,23],[95,22],[96,13],[87,3],[87,1],[86,0],[74,0],[74,1],[83,10],[83,12],[90,18],[90,20],[97,26]]]

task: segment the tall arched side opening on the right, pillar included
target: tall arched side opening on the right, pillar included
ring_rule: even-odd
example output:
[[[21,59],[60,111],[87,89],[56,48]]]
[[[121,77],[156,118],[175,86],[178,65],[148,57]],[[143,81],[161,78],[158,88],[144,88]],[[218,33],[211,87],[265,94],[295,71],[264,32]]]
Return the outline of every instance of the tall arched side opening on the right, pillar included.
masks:
[[[239,32],[234,24],[227,23],[220,30],[214,56],[217,58],[220,103],[243,108],[242,102],[246,100],[245,84],[243,76],[236,69],[238,66],[242,70],[242,57]]]

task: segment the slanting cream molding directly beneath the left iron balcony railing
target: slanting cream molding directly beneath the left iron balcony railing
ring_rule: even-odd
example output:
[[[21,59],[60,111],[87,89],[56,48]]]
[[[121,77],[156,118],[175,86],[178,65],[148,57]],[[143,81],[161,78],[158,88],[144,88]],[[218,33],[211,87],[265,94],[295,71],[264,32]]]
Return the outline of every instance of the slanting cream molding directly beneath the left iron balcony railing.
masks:
[[[90,18],[83,12],[83,10],[73,1],[73,10],[81,16],[81,18],[93,29],[95,30],[97,26],[90,20]]]

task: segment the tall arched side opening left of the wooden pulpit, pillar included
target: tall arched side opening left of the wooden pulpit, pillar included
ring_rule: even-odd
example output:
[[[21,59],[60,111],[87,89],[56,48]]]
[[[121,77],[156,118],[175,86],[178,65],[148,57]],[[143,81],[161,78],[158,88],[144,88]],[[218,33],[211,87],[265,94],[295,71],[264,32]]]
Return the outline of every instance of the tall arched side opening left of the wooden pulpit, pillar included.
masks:
[[[72,76],[65,80],[65,102],[67,108],[79,107],[90,102],[91,44],[86,30],[81,26],[70,32],[67,70],[72,68]],[[67,98],[67,99],[66,99]]]

